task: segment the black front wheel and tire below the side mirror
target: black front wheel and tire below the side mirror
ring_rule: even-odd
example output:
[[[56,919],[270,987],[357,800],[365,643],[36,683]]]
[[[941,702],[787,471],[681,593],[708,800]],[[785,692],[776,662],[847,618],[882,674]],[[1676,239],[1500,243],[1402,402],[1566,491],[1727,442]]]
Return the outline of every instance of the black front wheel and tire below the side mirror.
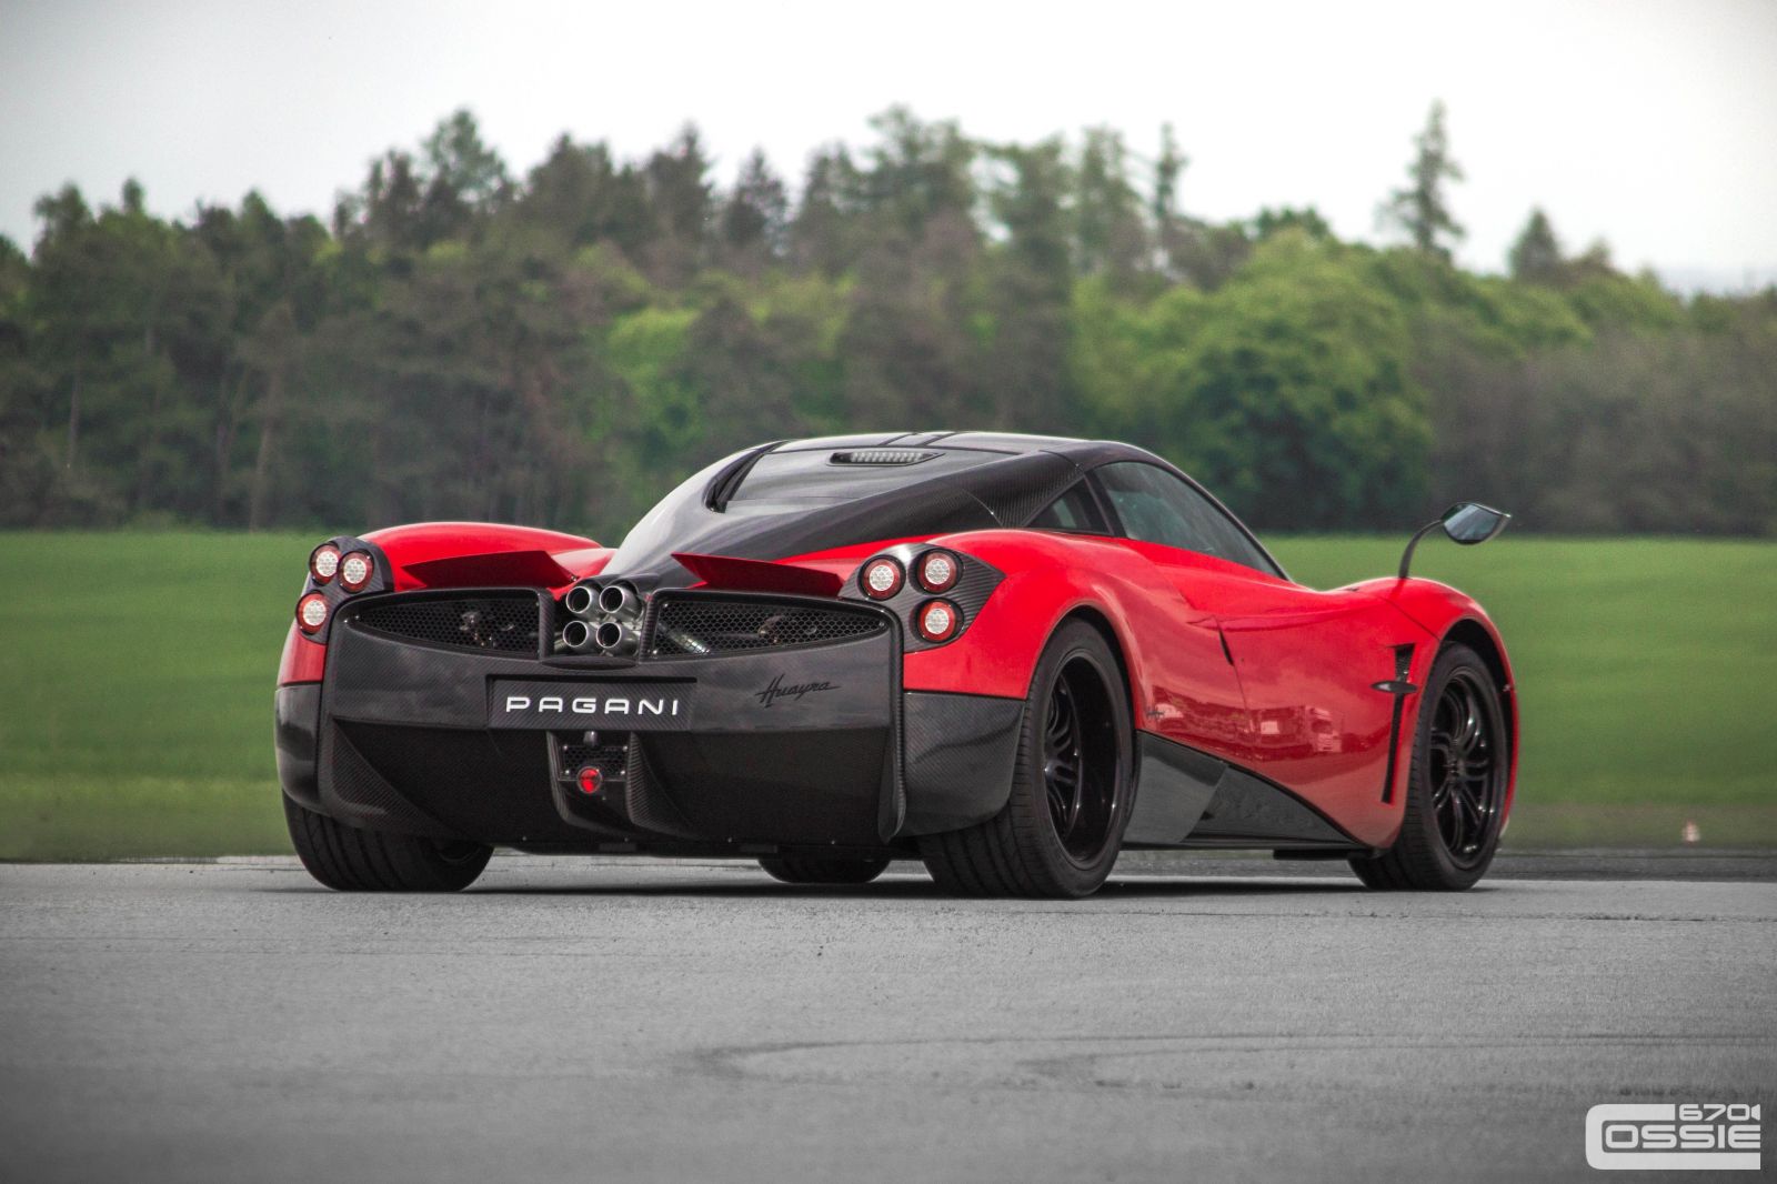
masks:
[[[1512,738],[1493,672],[1468,645],[1438,654],[1423,695],[1400,836],[1351,869],[1379,891],[1461,892],[1500,846]]]

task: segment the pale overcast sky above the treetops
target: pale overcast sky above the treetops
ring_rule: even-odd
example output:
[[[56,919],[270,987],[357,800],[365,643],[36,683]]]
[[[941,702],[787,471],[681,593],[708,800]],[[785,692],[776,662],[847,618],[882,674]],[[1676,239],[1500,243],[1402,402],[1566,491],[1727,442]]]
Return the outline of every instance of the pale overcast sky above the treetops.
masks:
[[[263,4],[0,0],[0,233],[64,181],[149,206],[259,188],[325,215],[371,156],[469,107],[515,172],[549,140],[640,156],[691,119],[729,180],[800,178],[890,103],[983,139],[1088,124],[1182,206],[1315,204],[1374,238],[1432,98],[1468,181],[1459,258],[1498,270],[1530,206],[1571,247],[1711,286],[1777,277],[1777,0],[1480,4]]]

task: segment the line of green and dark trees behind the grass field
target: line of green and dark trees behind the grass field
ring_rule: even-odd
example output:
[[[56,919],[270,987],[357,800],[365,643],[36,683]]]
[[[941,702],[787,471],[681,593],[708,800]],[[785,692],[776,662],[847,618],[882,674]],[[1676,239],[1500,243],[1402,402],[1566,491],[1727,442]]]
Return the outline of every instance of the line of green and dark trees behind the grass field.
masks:
[[[0,238],[0,524],[611,540],[748,443],[976,427],[1144,444],[1258,528],[1480,498],[1777,532],[1777,292],[1679,297],[1541,212],[1505,274],[1454,265],[1441,107],[1379,204],[1398,245],[1194,217],[1187,171],[1169,128],[997,144],[894,108],[794,183],[753,153],[718,187],[689,126],[517,176],[457,112],[327,222],[68,187],[28,254]]]

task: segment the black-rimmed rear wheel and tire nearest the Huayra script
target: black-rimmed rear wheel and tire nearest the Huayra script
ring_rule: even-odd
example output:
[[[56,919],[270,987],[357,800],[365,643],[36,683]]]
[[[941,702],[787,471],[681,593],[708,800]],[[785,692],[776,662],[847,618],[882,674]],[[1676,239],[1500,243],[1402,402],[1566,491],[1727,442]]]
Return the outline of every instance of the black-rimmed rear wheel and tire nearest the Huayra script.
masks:
[[[1064,624],[1031,677],[1006,807],[977,827],[922,837],[931,878],[958,896],[1091,896],[1128,827],[1132,747],[1111,645],[1084,620]]]

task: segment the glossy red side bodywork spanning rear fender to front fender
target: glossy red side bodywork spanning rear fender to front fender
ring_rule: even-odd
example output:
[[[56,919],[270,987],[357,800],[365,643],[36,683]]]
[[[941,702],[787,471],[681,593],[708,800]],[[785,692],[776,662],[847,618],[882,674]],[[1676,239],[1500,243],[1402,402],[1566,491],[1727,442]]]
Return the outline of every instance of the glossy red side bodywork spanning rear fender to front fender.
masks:
[[[1031,530],[931,542],[1006,580],[956,642],[906,656],[903,686],[1024,697],[1050,633],[1086,613],[1118,642],[1139,729],[1249,768],[1374,846],[1400,828],[1418,725],[1416,693],[1395,729],[1395,697],[1375,688],[1395,679],[1397,652],[1411,647],[1407,681],[1423,686],[1438,647],[1470,622],[1496,647],[1510,686],[1486,613],[1432,581],[1322,592],[1192,551]],[[1518,704],[1505,699],[1516,788]]]

